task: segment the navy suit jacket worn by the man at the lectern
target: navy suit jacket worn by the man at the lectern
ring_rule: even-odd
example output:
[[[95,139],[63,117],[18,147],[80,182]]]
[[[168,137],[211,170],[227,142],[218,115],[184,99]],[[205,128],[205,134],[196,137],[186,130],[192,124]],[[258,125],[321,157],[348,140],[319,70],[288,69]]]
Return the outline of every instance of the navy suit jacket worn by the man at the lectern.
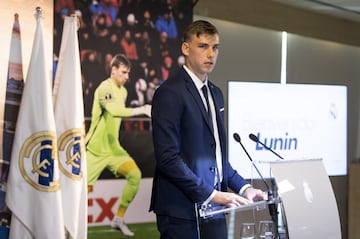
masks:
[[[226,160],[224,99],[211,82],[222,151],[221,189],[239,192],[247,182]],[[215,139],[201,97],[182,68],[156,91],[152,102],[156,170],[150,210],[157,214],[195,219],[195,203],[214,190]]]

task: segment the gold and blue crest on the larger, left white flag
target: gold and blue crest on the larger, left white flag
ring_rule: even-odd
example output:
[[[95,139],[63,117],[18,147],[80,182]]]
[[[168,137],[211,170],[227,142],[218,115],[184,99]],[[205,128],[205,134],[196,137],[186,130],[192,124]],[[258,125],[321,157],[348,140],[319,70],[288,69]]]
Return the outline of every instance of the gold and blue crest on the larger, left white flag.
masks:
[[[40,191],[60,189],[55,132],[31,135],[21,147],[19,168],[25,181]]]

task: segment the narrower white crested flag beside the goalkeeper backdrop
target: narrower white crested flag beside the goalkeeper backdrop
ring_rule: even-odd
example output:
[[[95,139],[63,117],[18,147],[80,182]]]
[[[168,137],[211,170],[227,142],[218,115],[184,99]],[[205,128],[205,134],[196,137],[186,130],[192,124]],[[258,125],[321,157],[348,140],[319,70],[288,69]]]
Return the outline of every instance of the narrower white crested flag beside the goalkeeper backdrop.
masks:
[[[87,177],[84,103],[78,19],[65,17],[54,84],[54,110],[64,225],[71,238],[87,238]]]

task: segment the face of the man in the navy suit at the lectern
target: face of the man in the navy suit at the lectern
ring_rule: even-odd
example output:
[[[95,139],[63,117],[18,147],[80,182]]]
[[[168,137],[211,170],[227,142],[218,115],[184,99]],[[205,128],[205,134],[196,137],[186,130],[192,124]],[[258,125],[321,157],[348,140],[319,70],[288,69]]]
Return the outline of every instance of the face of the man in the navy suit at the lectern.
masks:
[[[219,35],[195,35],[190,41],[182,44],[182,52],[186,57],[186,66],[202,81],[205,80],[216,64],[219,54]]]

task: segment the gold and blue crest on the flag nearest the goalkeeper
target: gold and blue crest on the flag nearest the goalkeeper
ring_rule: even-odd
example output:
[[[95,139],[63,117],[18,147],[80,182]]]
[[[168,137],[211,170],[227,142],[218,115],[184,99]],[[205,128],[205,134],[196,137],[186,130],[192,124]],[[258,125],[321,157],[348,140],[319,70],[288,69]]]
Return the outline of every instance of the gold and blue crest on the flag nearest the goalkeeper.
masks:
[[[82,178],[81,160],[83,155],[83,129],[65,131],[58,139],[59,167],[61,172],[73,179]]]

